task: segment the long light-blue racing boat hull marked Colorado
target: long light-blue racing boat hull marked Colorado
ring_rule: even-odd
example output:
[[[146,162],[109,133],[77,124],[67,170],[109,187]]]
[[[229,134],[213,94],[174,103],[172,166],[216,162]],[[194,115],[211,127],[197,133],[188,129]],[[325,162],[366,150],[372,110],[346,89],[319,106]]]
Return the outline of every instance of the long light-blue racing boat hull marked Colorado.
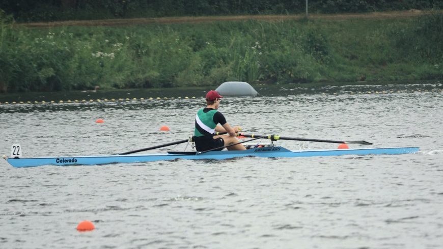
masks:
[[[326,157],[338,155],[367,155],[367,154],[407,154],[419,151],[419,147],[399,148],[362,148],[362,149],[326,149],[326,150],[295,150],[283,147],[263,147],[247,150],[210,151],[201,154],[129,154],[129,155],[92,155],[82,157],[50,157],[50,158],[8,158],[14,167],[35,167],[42,165],[103,165],[116,163],[143,163],[161,160],[223,160],[241,157],[261,158],[297,158],[297,157]]]

